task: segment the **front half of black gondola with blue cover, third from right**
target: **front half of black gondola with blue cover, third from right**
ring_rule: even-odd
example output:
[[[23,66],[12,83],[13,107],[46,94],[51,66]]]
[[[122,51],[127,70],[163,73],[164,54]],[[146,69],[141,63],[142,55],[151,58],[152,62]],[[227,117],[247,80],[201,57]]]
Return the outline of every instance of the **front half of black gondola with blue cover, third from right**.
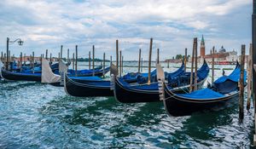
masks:
[[[68,95],[77,97],[91,96],[113,96],[113,90],[110,90],[110,81],[102,80],[101,78],[88,79],[71,79],[64,75],[64,88]]]

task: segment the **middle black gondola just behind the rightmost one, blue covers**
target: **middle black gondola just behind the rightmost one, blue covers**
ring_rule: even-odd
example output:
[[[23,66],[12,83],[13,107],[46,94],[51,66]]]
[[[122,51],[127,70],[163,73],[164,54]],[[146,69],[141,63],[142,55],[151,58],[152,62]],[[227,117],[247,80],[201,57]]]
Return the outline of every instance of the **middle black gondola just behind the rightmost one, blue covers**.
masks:
[[[183,67],[183,66],[182,66]],[[189,72],[182,72],[178,69],[169,75],[169,89],[174,93],[184,93],[189,89]],[[180,73],[182,72],[182,73]],[[204,61],[201,68],[198,70],[198,89],[205,82],[209,73],[207,62]],[[129,84],[126,83],[121,77],[114,77],[113,93],[116,100],[122,103],[136,103],[136,102],[154,102],[160,101],[158,83],[153,82],[143,84]]]

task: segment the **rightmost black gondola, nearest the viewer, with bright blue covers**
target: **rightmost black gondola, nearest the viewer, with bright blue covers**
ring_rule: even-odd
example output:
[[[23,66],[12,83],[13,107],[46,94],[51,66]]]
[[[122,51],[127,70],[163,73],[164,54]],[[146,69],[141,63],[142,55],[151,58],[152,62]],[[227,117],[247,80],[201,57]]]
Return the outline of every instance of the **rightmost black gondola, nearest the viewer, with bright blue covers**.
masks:
[[[166,112],[171,116],[185,116],[223,105],[226,101],[234,99],[238,95],[240,72],[241,66],[237,63],[235,70],[229,76],[219,77],[212,83],[211,87],[187,94],[176,94],[168,89],[166,83],[162,82],[161,93],[164,95],[161,95],[161,97],[163,97]],[[246,72],[244,81],[246,81]]]

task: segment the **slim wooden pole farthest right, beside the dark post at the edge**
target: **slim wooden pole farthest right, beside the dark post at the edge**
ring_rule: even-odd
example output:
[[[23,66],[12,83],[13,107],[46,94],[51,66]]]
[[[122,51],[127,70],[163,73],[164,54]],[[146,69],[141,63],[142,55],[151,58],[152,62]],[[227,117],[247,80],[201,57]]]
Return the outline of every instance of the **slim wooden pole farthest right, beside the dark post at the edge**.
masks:
[[[253,71],[253,44],[250,44],[249,55],[247,58],[247,110],[251,107],[252,98],[252,71]]]

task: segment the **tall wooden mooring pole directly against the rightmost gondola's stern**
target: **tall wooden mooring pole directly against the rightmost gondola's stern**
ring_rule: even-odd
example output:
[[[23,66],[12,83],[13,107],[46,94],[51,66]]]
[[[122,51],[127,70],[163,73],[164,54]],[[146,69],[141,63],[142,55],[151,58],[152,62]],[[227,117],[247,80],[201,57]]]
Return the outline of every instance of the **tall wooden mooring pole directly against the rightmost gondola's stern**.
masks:
[[[239,121],[242,122],[244,117],[243,104],[244,104],[244,61],[245,60],[245,45],[241,45],[241,72],[239,79]]]

